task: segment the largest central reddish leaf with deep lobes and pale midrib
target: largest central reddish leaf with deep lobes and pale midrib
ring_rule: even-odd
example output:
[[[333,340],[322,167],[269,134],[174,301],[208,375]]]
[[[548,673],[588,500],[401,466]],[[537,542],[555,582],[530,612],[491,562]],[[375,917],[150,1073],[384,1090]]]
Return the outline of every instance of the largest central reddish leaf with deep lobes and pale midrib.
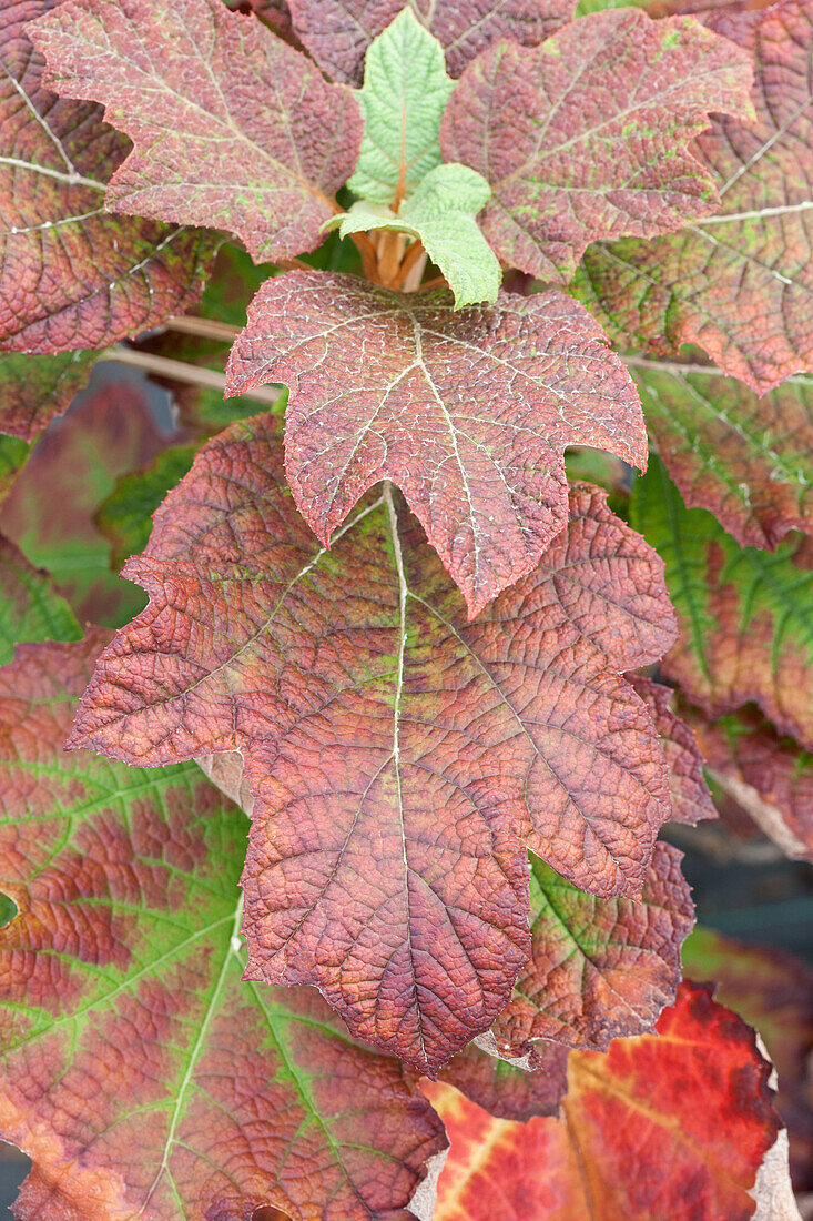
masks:
[[[271,416],[236,425],[170,493],[125,568],[150,604],[73,742],[140,764],[240,750],[249,976],[317,984],[433,1071],[527,960],[526,844],[592,893],[641,893],[669,794],[620,672],[674,639],[662,564],[581,488],[537,570],[468,623],[388,487],[320,548],[280,448]]]

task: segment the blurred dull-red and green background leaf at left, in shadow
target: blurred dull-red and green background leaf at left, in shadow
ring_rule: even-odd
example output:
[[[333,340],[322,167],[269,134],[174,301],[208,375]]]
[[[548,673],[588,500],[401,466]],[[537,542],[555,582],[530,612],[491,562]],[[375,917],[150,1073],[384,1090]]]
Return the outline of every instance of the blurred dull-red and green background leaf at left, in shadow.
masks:
[[[137,614],[142,591],[111,570],[95,513],[116,479],[149,463],[170,440],[150,408],[146,383],[98,368],[98,382],[52,420],[0,507],[0,530],[45,568],[81,623],[118,626]]]

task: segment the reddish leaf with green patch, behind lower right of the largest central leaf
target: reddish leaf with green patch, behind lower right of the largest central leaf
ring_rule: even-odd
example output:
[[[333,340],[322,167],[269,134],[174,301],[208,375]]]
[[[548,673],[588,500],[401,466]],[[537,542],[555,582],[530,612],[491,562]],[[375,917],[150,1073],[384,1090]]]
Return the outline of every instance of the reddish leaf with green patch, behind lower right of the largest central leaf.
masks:
[[[524,1056],[533,1039],[605,1050],[653,1028],[675,999],[695,923],[680,861],[656,844],[643,901],[632,902],[585,894],[531,858],[531,957],[492,1027],[500,1055]]]

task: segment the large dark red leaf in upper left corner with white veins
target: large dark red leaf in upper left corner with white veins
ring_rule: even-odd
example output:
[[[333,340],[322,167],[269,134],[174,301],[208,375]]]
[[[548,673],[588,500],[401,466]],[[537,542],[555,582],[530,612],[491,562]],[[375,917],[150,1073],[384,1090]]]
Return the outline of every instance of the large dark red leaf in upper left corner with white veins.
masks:
[[[98,106],[44,88],[28,22],[57,4],[0,6],[0,346],[13,352],[101,348],[183,313],[212,255],[205,234],[105,212],[128,142]]]

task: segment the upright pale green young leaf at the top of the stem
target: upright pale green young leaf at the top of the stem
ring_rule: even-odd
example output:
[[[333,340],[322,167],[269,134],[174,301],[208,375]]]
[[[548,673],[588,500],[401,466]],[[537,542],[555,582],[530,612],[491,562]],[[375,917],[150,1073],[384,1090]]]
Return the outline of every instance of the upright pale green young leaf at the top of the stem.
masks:
[[[404,9],[367,51],[359,92],[364,136],[350,190],[376,204],[409,197],[441,164],[441,120],[453,88],[443,48]]]

